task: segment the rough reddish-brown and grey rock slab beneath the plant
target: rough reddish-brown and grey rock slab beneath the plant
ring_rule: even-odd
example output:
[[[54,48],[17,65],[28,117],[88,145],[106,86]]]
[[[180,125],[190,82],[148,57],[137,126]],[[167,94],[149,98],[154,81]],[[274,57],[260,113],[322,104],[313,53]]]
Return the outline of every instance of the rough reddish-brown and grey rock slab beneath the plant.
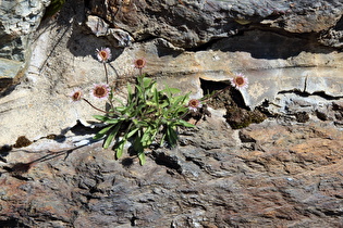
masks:
[[[114,161],[101,142],[14,149],[1,177],[1,225],[342,226],[343,134],[331,123],[232,130],[213,112],[181,142],[148,153],[144,166]]]

